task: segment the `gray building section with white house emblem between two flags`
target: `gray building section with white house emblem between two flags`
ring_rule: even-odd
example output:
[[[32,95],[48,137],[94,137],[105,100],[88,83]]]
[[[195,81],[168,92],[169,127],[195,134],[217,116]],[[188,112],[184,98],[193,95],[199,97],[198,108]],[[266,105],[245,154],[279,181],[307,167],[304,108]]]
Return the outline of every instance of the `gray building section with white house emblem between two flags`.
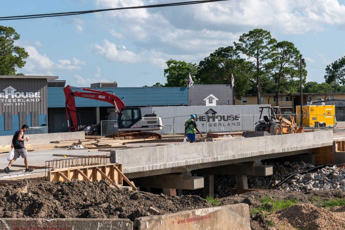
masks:
[[[231,106],[231,84],[196,84],[188,89],[189,106]]]

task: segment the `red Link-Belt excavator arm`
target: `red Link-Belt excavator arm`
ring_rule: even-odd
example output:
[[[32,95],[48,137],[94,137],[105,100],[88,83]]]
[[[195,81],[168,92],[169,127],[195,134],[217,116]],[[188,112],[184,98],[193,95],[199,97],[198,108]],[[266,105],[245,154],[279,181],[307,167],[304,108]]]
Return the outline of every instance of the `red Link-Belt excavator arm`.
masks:
[[[104,101],[112,104],[116,108],[116,112],[119,114],[122,108],[125,108],[125,103],[115,96],[114,94],[108,93],[106,91],[99,91],[93,90],[88,88],[83,88],[85,91],[90,92],[80,92],[80,91],[72,91],[71,87],[68,85],[63,88],[63,92],[65,93],[66,97],[66,116],[67,116],[67,124],[69,131],[77,131],[78,130],[78,119],[77,119],[77,110],[76,110],[76,101],[75,97],[81,98],[88,98],[92,100]],[[69,124],[69,114],[72,120],[72,126]]]

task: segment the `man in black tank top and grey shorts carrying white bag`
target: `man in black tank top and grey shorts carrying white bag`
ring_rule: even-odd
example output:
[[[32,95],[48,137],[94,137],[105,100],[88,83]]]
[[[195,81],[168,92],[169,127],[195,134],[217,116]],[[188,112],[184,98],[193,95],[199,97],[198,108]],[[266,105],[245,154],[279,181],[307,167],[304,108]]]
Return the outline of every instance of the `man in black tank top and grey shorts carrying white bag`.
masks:
[[[14,147],[14,158],[8,163],[8,166],[4,169],[6,173],[10,173],[10,166],[13,164],[15,160],[17,160],[18,157],[24,158],[24,164],[25,164],[25,172],[32,172],[33,170],[30,169],[29,163],[28,163],[28,152],[25,149],[24,141],[28,141],[29,138],[23,139],[24,132],[26,132],[29,129],[29,127],[24,124],[20,130],[17,130],[12,138],[12,145],[11,149]]]

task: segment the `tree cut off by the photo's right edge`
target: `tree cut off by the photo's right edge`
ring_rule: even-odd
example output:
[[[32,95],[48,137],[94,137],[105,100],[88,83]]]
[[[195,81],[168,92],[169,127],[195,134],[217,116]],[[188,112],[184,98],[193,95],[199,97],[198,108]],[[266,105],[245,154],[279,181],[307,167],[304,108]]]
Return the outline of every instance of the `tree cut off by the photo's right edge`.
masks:
[[[345,57],[335,60],[326,67],[325,80],[328,84],[336,81],[345,86]]]

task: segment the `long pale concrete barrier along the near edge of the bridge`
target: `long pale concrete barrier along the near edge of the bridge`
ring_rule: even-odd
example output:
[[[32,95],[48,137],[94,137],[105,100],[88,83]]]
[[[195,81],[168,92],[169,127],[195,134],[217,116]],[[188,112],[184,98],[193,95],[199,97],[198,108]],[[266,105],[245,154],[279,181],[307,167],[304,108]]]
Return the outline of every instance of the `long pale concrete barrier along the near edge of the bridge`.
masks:
[[[332,145],[333,132],[323,130],[277,136],[113,150],[111,151],[111,163],[121,162],[122,170],[126,176],[136,178],[290,156],[304,153],[305,150]]]

